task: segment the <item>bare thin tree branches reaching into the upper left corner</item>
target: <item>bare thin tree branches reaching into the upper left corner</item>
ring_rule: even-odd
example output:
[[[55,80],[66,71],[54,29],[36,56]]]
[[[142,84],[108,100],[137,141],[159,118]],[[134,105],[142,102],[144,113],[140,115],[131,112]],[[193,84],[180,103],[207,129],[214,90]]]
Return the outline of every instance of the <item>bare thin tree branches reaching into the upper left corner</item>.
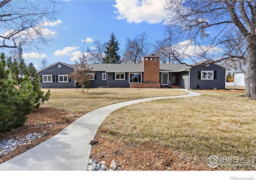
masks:
[[[47,37],[49,23],[55,21],[60,10],[58,1],[12,1],[0,2],[0,48],[17,48],[19,43],[25,49],[39,48],[52,40]]]

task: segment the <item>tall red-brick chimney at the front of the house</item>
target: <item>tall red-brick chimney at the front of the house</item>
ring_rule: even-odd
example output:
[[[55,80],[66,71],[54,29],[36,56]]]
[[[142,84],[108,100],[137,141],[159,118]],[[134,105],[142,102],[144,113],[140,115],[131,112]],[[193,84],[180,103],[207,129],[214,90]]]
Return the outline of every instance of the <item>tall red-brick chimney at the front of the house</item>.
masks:
[[[143,83],[159,83],[159,56],[144,57]]]

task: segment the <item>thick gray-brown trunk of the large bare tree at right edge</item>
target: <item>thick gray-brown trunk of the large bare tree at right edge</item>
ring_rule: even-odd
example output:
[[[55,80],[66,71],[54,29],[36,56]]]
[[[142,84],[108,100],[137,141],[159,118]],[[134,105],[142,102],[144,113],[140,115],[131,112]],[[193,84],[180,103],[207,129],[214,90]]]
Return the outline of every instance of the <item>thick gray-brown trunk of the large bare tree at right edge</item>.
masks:
[[[256,45],[254,41],[248,40],[247,69],[244,77],[246,98],[256,100]]]

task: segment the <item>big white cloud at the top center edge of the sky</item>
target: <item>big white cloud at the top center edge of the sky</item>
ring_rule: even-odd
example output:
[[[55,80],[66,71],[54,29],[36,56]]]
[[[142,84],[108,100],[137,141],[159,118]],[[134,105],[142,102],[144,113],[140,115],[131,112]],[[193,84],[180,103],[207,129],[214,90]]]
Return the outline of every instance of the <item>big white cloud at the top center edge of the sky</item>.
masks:
[[[154,24],[166,19],[162,0],[116,0],[113,6],[117,9],[117,18],[130,23],[145,21]]]

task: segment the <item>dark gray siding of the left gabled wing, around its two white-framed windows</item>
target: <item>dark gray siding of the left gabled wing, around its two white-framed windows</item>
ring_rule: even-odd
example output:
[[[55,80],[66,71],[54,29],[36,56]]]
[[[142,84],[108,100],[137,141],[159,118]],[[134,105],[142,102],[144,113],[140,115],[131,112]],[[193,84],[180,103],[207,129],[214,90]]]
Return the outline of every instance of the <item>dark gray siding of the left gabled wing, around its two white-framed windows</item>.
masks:
[[[40,85],[42,88],[74,88],[75,81],[73,79],[70,79],[70,82],[56,82],[58,75],[66,75],[73,71],[73,68],[70,68],[64,64],[61,64],[60,68],[58,68],[58,64],[55,64],[54,66],[38,72],[38,75],[41,76],[41,78],[42,75],[52,75],[54,82],[40,82]]]

